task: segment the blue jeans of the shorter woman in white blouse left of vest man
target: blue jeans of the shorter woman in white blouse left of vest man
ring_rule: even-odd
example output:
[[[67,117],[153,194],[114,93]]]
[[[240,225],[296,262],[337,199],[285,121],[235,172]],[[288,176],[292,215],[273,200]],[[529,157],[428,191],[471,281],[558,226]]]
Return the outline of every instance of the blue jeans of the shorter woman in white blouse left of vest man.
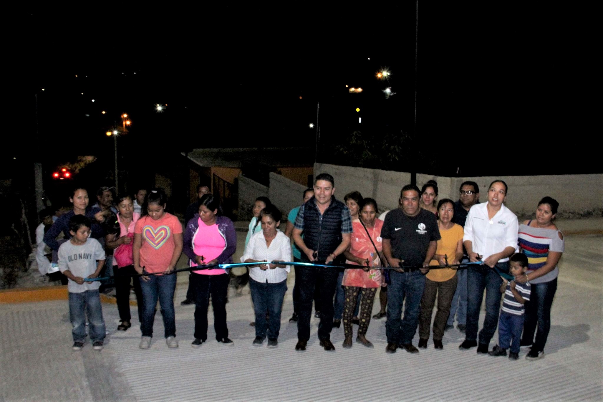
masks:
[[[280,269],[280,268],[276,268]],[[287,291],[287,280],[279,283],[258,282],[249,278],[251,300],[256,313],[256,336],[260,338],[279,338],[280,312]],[[268,313],[268,320],[266,320]]]

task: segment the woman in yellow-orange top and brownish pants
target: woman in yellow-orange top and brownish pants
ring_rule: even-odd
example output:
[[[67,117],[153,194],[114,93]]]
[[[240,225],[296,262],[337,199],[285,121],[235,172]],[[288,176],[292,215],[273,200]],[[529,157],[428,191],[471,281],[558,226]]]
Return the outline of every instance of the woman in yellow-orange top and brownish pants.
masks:
[[[452,222],[454,201],[441,199],[438,203],[438,228],[440,236],[434,259],[429,265],[444,266],[458,264],[463,259],[463,227]],[[418,320],[418,347],[427,348],[431,312],[435,297],[438,297],[438,311],[434,319],[434,348],[442,349],[444,326],[450,313],[450,303],[456,291],[456,269],[432,269],[425,278],[425,291],[421,298],[421,313]]]

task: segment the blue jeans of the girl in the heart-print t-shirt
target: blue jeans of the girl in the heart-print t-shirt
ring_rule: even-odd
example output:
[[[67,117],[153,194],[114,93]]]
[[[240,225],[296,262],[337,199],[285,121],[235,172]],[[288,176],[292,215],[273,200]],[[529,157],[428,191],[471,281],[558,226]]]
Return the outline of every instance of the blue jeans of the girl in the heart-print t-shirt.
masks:
[[[149,280],[140,278],[140,290],[142,291],[142,323],[140,331],[142,336],[153,336],[153,322],[155,321],[155,310],[157,298],[163,315],[163,327],[165,338],[176,336],[176,320],[174,313],[174,291],[176,289],[176,274],[150,275]]]

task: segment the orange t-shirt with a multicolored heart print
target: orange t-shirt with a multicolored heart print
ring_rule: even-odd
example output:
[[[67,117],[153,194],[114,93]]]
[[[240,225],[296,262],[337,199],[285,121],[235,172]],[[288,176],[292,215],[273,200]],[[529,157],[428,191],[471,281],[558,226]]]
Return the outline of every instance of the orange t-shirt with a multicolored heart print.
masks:
[[[168,212],[157,221],[143,216],[136,221],[134,233],[142,235],[140,266],[150,274],[165,271],[176,248],[174,233],[182,233],[178,218]]]

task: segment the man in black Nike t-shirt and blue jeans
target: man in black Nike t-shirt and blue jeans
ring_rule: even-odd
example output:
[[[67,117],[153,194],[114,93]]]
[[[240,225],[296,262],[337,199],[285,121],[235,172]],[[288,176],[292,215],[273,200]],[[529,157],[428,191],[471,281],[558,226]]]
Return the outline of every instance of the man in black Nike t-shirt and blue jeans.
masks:
[[[418,353],[418,349],[412,345],[412,338],[417,331],[425,274],[434,257],[437,240],[440,240],[435,215],[418,206],[419,193],[414,184],[402,187],[402,208],[391,210],[385,216],[381,230],[383,253],[390,266],[411,267],[394,268],[390,272],[385,326],[387,353],[395,353],[397,348]],[[405,294],[404,318],[401,319]]]

